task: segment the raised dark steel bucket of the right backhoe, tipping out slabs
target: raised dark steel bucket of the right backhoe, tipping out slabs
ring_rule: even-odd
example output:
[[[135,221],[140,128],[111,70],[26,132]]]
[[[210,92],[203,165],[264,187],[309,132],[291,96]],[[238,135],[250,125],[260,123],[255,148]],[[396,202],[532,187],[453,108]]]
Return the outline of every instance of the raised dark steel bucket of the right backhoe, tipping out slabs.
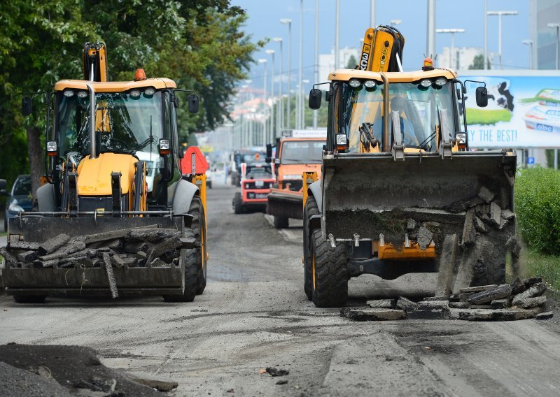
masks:
[[[506,152],[454,152],[446,159],[407,153],[404,161],[391,154],[326,156],[326,236],[379,240],[383,234],[385,243],[402,245],[407,230],[426,224],[437,247],[444,234],[461,238],[471,208],[482,219],[490,218],[496,204],[512,210],[515,168],[515,155]]]

